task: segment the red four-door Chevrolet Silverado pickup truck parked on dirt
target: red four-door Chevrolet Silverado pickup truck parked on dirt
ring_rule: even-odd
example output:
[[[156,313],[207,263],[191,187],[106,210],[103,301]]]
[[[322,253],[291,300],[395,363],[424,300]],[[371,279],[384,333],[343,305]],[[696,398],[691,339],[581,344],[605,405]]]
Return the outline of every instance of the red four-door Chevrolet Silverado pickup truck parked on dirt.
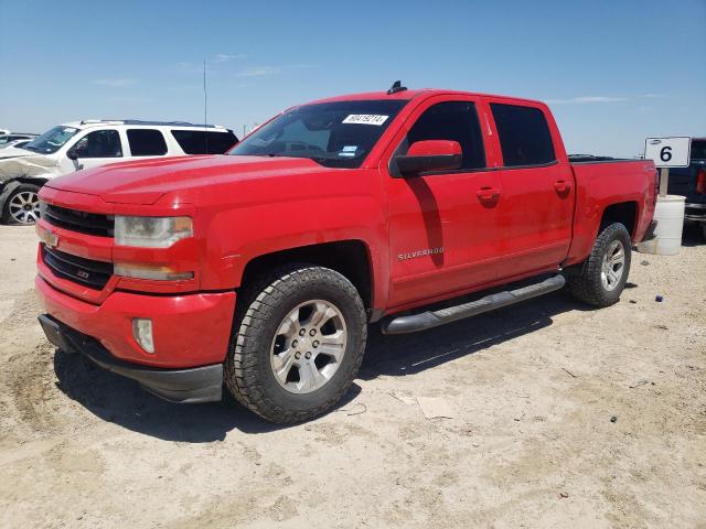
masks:
[[[303,421],[349,389],[371,322],[422,331],[565,281],[616,303],[655,186],[651,161],[570,161],[538,101],[398,84],[323,99],[229,155],[49,182],[40,322],[164,399],[218,400],[225,384]]]

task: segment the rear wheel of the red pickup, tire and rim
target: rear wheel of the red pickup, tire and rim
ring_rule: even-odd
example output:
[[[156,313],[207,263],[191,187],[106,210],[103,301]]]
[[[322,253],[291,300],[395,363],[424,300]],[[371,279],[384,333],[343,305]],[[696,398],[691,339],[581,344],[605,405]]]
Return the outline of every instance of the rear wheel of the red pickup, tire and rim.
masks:
[[[622,224],[605,227],[581,273],[567,277],[574,296],[593,306],[618,302],[630,273],[631,251],[630,234]]]

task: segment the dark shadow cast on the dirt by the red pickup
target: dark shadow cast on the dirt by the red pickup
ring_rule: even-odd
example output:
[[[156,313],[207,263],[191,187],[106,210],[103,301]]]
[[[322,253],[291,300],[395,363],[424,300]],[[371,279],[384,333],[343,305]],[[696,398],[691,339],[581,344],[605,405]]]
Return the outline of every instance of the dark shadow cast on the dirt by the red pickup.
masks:
[[[424,333],[384,336],[373,325],[359,376],[371,380],[381,375],[413,375],[552,325],[552,316],[573,310],[586,306],[558,292]],[[96,417],[167,441],[205,443],[223,440],[234,429],[265,433],[287,428],[249,412],[225,389],[223,402],[173,404],[81,355],[62,350],[54,355],[54,373],[58,389]],[[349,407],[360,392],[354,384],[333,412]]]

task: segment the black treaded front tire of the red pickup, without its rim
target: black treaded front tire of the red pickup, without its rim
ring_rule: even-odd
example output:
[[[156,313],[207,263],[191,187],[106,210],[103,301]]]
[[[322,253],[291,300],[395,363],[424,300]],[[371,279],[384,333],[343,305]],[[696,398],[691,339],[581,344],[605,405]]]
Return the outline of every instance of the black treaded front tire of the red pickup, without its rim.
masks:
[[[310,420],[334,407],[357,374],[367,338],[365,309],[355,287],[334,270],[293,263],[263,276],[239,298],[225,361],[225,384],[235,399],[278,423]],[[343,313],[346,350],[327,385],[310,393],[290,393],[271,373],[271,341],[281,319],[299,303],[313,299],[327,299]]]

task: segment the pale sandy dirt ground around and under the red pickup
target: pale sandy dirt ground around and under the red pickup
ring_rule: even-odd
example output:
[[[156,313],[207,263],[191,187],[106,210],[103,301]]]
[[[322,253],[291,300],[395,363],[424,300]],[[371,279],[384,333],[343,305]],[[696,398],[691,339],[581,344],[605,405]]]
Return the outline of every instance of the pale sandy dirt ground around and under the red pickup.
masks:
[[[685,245],[635,253],[609,309],[558,292],[418,335],[373,327],[345,401],[279,428],[55,352],[34,231],[0,226],[0,526],[706,527],[706,244]]]

